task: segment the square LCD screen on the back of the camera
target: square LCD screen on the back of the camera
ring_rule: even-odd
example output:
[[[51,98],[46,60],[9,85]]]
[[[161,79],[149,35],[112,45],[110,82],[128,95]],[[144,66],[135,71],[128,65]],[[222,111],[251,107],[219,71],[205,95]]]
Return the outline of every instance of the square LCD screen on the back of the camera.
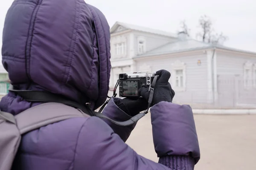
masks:
[[[138,96],[138,80],[123,81],[124,96]]]

